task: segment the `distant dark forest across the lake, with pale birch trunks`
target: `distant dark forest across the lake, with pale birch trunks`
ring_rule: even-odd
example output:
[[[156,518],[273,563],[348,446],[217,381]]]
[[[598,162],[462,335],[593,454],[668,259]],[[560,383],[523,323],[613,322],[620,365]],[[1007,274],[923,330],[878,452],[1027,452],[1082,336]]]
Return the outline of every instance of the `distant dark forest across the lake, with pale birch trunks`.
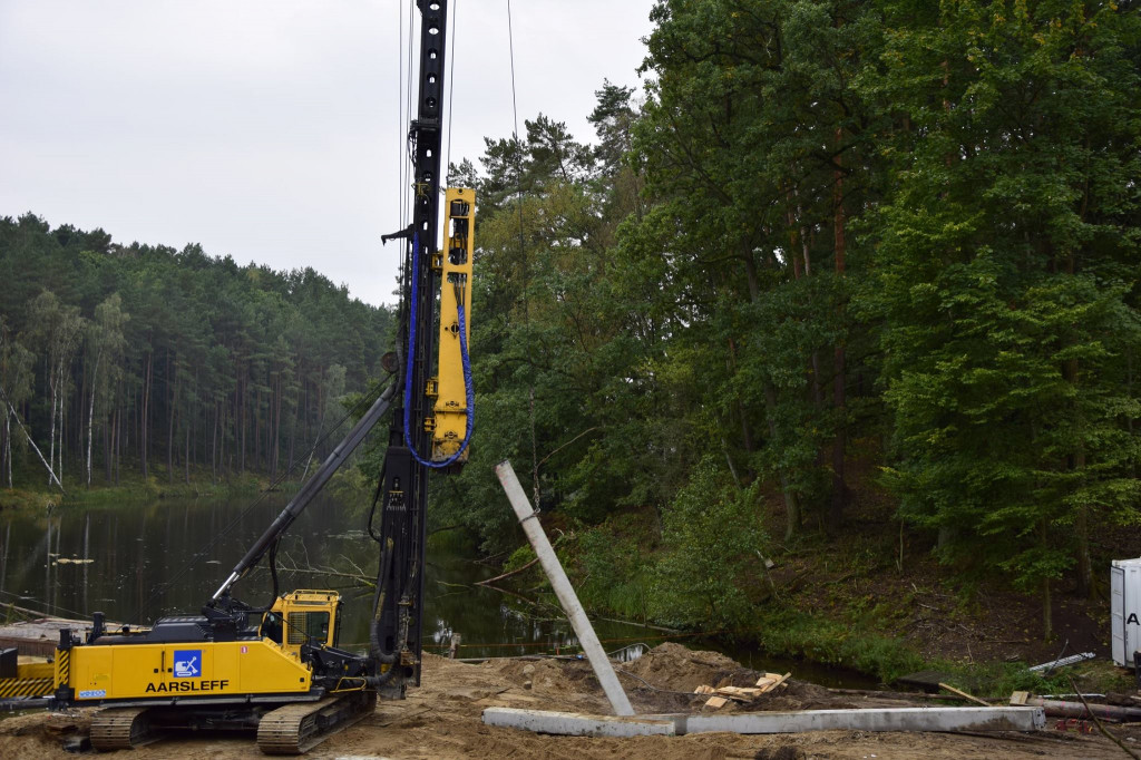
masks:
[[[0,218],[0,278],[9,488],[147,479],[155,463],[160,482],[276,477],[335,444],[322,430],[390,340],[388,309],[311,268],[120,245],[33,213]]]

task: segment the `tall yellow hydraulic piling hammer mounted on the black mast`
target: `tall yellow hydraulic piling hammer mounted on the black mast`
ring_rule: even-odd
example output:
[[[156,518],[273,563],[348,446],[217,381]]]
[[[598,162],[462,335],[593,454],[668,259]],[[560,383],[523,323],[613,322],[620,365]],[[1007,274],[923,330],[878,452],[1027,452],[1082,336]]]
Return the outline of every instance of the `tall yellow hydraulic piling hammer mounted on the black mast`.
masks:
[[[467,387],[460,351],[456,306],[464,312],[464,340],[471,342],[471,257],[475,252],[476,192],[450,187],[444,202],[444,250],[436,260],[440,269],[439,340],[437,377],[428,383],[436,397],[435,418],[426,421],[432,434],[431,459],[442,462],[459,451],[468,426]],[[458,460],[468,461],[468,450]]]

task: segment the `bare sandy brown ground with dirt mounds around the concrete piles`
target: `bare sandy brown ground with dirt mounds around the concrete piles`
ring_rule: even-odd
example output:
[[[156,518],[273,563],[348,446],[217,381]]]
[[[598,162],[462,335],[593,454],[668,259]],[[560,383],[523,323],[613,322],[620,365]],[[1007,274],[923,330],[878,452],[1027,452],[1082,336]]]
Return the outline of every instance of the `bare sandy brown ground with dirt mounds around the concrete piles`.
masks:
[[[691,692],[703,684],[751,686],[758,673],[723,655],[690,652],[665,644],[633,663],[621,677],[639,713],[697,712],[704,698]],[[309,752],[311,758],[654,758],[688,760],[760,758],[1124,758],[1100,735],[1085,736],[1053,728],[1034,734],[887,734],[820,731],[796,735],[738,736],[701,734],[678,737],[588,738],[541,736],[491,728],[480,721],[484,708],[507,706],[576,712],[607,712],[601,689],[585,662],[500,660],[464,664],[426,655],[423,685],[407,700],[381,702],[373,715],[332,736]],[[650,688],[654,687],[654,688]],[[823,710],[859,706],[914,706],[883,696],[836,694],[795,679],[786,688],[739,710]],[[63,749],[83,734],[90,711],[73,714],[32,713],[0,721],[0,758],[74,758]],[[1053,723],[1053,721],[1051,721]],[[1141,725],[1114,726],[1131,747],[1141,747]],[[108,753],[108,757],[120,753]],[[200,757],[262,757],[250,735],[184,734],[122,753],[138,760]]]

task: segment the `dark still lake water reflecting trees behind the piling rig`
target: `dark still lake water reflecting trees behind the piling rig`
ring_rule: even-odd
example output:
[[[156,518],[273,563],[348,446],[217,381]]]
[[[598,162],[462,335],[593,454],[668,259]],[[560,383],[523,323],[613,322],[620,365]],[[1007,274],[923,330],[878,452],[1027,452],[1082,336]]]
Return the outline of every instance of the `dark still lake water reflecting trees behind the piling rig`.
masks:
[[[251,507],[254,500],[163,499],[63,507],[50,514],[2,512],[0,605],[14,603],[79,620],[99,611],[107,620],[138,623],[196,613],[277,516],[286,496],[260,498]],[[364,532],[365,519],[365,508],[323,496],[297,519],[278,549],[281,590],[340,590],[341,645],[358,650],[367,646],[372,590],[349,576],[371,580],[378,560],[377,544]],[[424,640],[435,644],[429,650],[445,653],[453,632],[462,637],[462,657],[545,654],[576,646],[569,624],[551,620],[549,609],[540,614],[503,591],[472,585],[497,571],[477,563],[447,537],[440,534],[429,541]],[[264,566],[265,560],[234,587],[235,597],[253,605],[269,601],[272,582]],[[609,652],[663,640],[661,631],[632,623],[596,621],[596,632]],[[726,650],[709,641],[699,645]],[[745,665],[788,669],[826,686],[873,685],[872,679],[812,663],[750,650],[726,653]]]

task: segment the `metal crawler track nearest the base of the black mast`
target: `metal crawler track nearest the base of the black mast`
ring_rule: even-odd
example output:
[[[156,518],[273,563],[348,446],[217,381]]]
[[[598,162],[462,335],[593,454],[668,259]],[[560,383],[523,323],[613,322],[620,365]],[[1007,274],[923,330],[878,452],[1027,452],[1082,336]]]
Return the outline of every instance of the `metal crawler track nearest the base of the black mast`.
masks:
[[[354,692],[277,708],[258,723],[258,747],[266,754],[301,754],[372,713],[375,705],[375,694]]]

